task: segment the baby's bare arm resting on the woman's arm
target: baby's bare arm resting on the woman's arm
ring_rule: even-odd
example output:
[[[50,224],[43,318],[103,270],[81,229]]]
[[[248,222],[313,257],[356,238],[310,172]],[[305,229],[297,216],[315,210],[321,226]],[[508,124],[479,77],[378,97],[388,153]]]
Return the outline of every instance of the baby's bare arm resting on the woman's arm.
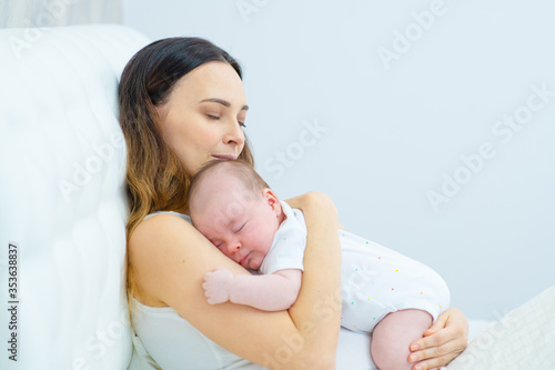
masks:
[[[204,276],[202,288],[211,304],[230,301],[264,311],[281,311],[295,302],[301,280],[302,271],[297,269],[249,276],[216,268]]]

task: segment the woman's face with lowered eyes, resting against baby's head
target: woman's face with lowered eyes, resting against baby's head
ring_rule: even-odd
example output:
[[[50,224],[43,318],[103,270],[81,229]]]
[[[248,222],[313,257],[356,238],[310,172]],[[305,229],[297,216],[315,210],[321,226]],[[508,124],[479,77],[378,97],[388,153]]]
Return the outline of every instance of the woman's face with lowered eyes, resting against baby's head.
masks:
[[[233,67],[204,63],[183,76],[159,108],[162,137],[194,176],[210,160],[239,157],[248,109]]]

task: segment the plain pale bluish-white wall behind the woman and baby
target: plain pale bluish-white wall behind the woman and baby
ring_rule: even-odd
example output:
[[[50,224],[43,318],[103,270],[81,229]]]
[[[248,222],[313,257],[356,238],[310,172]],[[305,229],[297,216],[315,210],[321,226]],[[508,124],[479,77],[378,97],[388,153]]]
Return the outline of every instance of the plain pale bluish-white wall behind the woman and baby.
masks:
[[[329,193],[347,230],[432,266],[471,319],[555,282],[554,11],[542,0],[123,1],[124,23],[150,38],[205,37],[242,62],[246,132],[282,198]]]

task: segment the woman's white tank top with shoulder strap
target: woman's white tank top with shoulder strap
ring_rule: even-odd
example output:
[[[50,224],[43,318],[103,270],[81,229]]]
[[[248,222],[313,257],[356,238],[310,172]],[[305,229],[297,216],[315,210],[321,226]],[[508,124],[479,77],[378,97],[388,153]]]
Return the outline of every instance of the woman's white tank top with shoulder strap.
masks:
[[[171,213],[191,222],[189,216]],[[145,219],[147,219],[145,218]],[[149,307],[133,299],[133,357],[129,370],[263,370],[231,353],[184,320],[171,307]]]

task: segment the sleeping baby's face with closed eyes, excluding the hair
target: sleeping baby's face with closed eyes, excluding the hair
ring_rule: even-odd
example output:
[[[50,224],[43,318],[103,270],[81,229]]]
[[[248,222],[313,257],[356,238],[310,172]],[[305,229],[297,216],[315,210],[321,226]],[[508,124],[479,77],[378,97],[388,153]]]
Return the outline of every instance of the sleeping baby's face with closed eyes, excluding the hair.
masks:
[[[191,219],[221,252],[258,270],[280,226],[281,207],[270,189],[253,193],[238,182],[206,180],[191,202]]]

